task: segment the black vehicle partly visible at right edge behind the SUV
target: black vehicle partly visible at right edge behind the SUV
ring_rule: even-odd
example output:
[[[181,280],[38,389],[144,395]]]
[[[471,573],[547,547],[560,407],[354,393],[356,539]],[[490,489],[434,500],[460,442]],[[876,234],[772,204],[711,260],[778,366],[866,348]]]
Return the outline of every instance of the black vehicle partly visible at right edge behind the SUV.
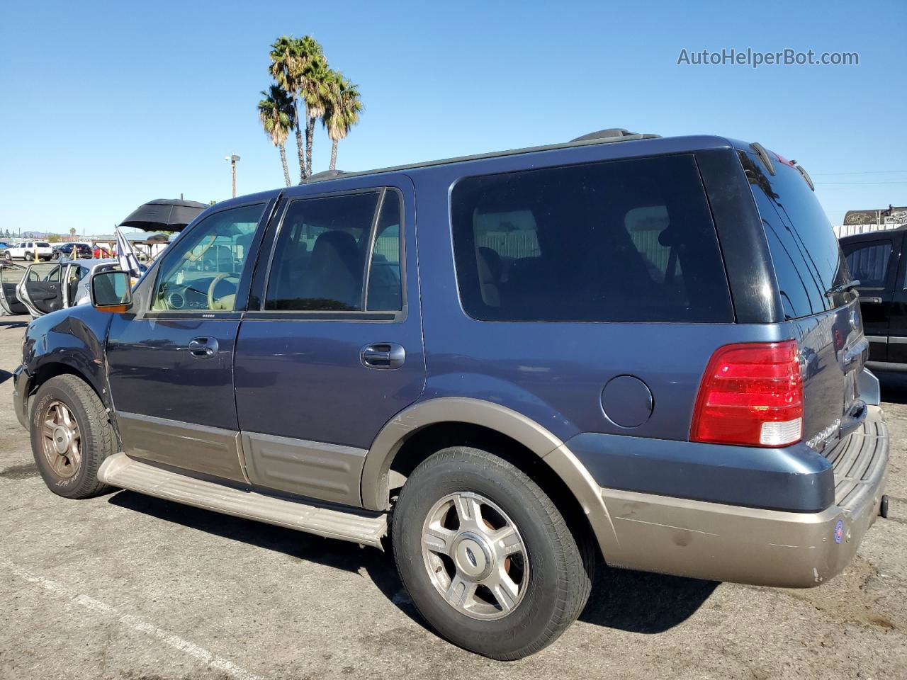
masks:
[[[859,279],[869,362],[878,370],[907,371],[907,227],[841,239],[853,278]]]

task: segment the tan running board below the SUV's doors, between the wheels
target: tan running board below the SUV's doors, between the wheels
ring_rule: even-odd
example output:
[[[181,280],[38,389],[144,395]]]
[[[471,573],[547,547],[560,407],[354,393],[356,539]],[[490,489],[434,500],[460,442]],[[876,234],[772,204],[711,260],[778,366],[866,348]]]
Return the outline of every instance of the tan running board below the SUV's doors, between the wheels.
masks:
[[[234,489],[135,461],[122,452],[103,461],[98,479],[156,498],[377,549],[383,549],[381,538],[387,533],[385,513],[336,510],[315,501],[285,500],[256,491]]]

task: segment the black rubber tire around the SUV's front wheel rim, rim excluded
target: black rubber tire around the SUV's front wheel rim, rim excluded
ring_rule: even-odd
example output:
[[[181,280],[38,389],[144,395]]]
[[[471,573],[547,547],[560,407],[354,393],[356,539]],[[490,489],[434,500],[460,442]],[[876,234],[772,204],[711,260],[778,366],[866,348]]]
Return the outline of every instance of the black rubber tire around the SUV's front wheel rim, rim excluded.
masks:
[[[81,461],[71,477],[57,474],[44,453],[44,420],[48,409],[57,402],[62,402],[73,415],[80,433]],[[30,425],[34,462],[48,489],[72,499],[92,498],[112,490],[98,481],[98,468],[116,452],[116,436],[107,410],[83,380],[75,375],[57,375],[41,385],[34,395]]]

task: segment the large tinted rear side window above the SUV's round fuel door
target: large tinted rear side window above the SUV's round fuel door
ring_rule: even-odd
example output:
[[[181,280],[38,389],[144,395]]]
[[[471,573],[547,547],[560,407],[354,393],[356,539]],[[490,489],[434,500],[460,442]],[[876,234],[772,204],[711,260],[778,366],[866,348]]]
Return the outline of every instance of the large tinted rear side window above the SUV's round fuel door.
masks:
[[[692,156],[473,177],[452,201],[457,282],[474,318],[733,320]]]

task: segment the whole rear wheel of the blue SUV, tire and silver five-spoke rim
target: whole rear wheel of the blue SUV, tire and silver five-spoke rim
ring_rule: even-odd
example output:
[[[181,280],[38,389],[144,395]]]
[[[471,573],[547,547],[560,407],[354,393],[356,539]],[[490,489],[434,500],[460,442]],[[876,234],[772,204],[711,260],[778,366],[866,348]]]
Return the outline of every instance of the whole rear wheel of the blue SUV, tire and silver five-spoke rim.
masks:
[[[419,465],[397,500],[393,543],[422,616],[483,656],[539,651],[589,597],[591,551],[534,481],[488,452],[453,447]]]

